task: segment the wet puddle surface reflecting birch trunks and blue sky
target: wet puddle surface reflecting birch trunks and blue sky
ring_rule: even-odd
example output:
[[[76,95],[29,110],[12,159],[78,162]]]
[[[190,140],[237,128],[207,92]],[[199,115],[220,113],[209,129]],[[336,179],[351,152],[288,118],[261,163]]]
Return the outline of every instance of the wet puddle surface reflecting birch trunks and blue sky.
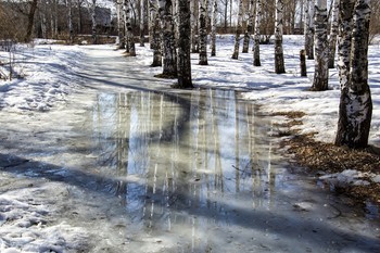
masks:
[[[270,208],[279,180],[270,132],[235,91],[102,93],[92,112],[94,156],[119,179],[102,187],[148,230],[228,225],[236,208]]]

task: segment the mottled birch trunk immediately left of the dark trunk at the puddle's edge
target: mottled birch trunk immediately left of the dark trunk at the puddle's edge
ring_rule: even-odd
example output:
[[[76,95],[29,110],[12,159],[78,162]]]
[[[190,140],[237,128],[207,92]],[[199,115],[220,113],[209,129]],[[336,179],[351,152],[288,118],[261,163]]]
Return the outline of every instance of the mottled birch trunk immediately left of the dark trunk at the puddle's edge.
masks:
[[[172,0],[159,0],[161,17],[161,33],[163,42],[163,73],[164,77],[177,77],[177,55],[175,48],[175,26],[173,21]]]

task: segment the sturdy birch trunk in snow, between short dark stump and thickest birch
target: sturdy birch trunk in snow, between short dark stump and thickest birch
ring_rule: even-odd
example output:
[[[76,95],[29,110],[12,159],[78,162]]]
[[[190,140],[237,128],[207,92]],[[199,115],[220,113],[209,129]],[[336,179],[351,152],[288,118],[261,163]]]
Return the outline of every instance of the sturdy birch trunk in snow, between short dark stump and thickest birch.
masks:
[[[315,5],[315,72],[312,90],[322,91],[329,84],[329,43],[327,39],[327,0],[317,0]]]

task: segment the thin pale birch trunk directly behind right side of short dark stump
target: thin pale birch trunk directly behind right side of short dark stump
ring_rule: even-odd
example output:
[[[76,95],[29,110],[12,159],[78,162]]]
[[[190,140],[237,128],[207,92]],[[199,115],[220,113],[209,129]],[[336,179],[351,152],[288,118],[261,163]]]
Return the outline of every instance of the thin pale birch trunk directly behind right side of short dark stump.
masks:
[[[305,50],[308,60],[314,60],[314,0],[306,0]]]

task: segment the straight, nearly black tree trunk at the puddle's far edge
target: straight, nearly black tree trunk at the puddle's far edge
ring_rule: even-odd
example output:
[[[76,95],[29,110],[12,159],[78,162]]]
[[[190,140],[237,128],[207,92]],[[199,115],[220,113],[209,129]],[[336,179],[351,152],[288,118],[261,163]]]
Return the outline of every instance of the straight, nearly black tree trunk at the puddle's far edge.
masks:
[[[190,59],[190,0],[178,0],[178,87],[192,88]]]

